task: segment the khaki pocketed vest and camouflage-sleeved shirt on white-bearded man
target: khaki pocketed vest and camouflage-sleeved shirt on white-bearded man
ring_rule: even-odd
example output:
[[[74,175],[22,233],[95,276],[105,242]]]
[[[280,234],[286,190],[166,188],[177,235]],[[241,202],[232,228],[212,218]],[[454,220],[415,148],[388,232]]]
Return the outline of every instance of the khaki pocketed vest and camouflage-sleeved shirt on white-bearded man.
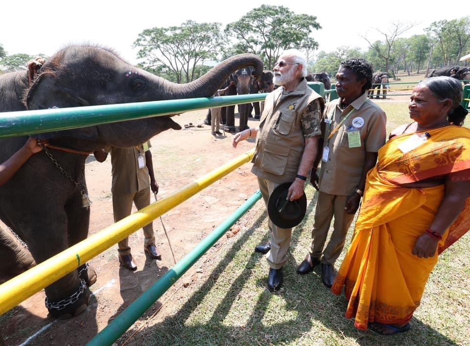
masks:
[[[286,92],[281,86],[269,93],[259,119],[252,173],[275,183],[295,179],[305,138],[321,134],[323,98],[307,86]]]

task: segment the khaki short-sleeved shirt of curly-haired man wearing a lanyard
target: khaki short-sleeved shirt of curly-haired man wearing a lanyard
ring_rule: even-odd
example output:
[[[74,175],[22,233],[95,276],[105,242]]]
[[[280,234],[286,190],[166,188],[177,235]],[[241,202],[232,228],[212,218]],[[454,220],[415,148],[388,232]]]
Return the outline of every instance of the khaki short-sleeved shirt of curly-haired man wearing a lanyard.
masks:
[[[348,113],[352,110],[352,113]],[[348,116],[328,140],[329,133]],[[330,121],[330,124],[328,124]],[[385,144],[386,115],[382,108],[363,94],[343,111],[341,99],[327,104],[323,113],[324,147],[329,148],[328,162],[321,161],[320,191],[329,195],[352,195],[359,185],[366,151],[377,152]],[[350,148],[348,131],[359,130],[360,147]]]

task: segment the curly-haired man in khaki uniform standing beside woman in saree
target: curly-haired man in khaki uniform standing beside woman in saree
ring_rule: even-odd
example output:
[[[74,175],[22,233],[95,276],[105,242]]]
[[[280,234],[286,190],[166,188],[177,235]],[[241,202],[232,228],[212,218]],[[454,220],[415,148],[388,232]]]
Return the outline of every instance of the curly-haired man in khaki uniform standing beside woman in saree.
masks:
[[[372,83],[372,66],[363,59],[342,62],[336,74],[339,98],[323,113],[321,149],[311,174],[318,182],[316,167],[322,161],[318,201],[310,253],[297,269],[307,274],[322,263],[322,281],[331,287],[334,262],[343,250],[356,213],[366,175],[375,166],[377,151],[385,144],[385,112],[366,96]],[[334,216],[333,232],[324,249]]]

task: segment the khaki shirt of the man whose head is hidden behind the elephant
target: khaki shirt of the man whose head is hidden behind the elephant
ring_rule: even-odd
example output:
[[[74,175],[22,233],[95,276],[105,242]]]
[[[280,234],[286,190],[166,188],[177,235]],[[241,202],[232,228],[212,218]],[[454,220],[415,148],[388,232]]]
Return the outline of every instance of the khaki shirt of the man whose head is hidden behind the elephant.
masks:
[[[145,151],[151,147],[150,141],[132,148],[111,147],[111,171],[113,194],[135,194],[150,186]],[[139,157],[142,157],[143,167],[139,168]],[[142,161],[143,160],[143,161]]]

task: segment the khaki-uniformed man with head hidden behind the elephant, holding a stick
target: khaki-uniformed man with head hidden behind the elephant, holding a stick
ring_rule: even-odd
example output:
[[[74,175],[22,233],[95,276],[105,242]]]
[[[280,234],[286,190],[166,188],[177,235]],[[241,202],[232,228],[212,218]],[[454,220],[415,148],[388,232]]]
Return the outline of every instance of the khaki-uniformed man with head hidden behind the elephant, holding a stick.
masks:
[[[126,216],[131,215],[132,202],[138,210],[150,204],[150,189],[158,193],[158,184],[153,172],[152,154],[150,152],[150,141],[132,148],[111,147],[105,151],[94,152],[98,161],[103,162],[108,152],[111,153],[111,166],[113,183],[113,214],[114,221],[118,222]],[[149,182],[150,177],[150,182]],[[151,258],[161,259],[157,247],[153,224],[150,222],[143,227],[144,251]],[[118,242],[119,262],[130,270],[136,270],[128,238]]]

